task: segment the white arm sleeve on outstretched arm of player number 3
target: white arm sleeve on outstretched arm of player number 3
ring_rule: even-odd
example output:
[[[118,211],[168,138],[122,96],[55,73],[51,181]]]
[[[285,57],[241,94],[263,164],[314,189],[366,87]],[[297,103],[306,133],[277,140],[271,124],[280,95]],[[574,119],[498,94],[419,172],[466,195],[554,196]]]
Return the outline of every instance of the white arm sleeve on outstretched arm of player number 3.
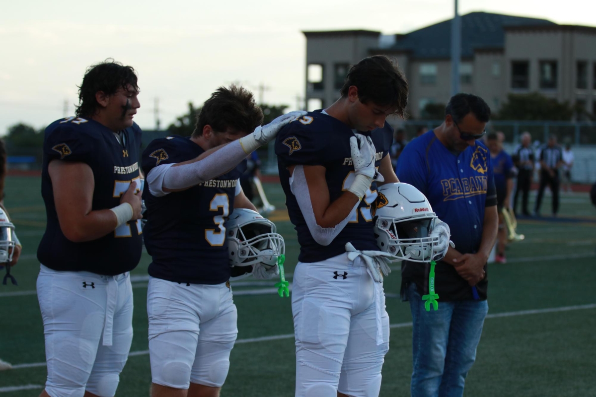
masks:
[[[163,189],[188,189],[201,182],[213,179],[234,168],[240,161],[246,158],[247,154],[235,140],[206,158],[190,164],[177,165],[162,164],[153,168],[146,177],[149,183],[149,191],[152,195],[160,197],[169,192]]]

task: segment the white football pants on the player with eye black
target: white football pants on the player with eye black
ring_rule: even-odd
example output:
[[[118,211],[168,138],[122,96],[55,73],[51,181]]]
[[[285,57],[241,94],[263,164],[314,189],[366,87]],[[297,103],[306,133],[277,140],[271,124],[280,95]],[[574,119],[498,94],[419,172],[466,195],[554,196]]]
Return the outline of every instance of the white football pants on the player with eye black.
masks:
[[[52,397],[116,394],[132,342],[132,286],[128,273],[100,276],[41,265],[37,292],[44,320]]]

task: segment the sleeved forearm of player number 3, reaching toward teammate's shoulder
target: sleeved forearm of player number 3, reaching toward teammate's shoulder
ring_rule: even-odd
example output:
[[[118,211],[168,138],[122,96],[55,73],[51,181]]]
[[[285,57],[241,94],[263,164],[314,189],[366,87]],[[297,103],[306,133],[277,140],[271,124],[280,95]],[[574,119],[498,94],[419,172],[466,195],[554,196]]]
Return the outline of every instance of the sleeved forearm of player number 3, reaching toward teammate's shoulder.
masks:
[[[212,155],[215,153],[217,153],[216,156]],[[240,142],[235,140],[228,145],[219,146],[219,149],[209,152],[206,157],[201,156],[191,162],[182,162],[169,167],[163,176],[163,190],[184,190],[216,178],[232,170],[247,155]]]

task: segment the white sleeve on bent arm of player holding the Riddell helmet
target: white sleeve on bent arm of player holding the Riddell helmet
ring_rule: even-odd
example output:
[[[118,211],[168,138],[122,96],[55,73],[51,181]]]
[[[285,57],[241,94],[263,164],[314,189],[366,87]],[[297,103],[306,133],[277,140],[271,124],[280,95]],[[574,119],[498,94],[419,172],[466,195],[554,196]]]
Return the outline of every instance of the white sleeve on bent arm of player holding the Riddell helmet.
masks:
[[[330,245],[333,239],[346,226],[350,215],[347,215],[344,220],[334,227],[321,227],[316,223],[315,214],[312,211],[311,193],[308,191],[308,184],[306,183],[302,165],[296,165],[294,167],[294,173],[290,177],[290,190],[296,196],[296,201],[302,211],[302,216],[306,221],[306,226],[308,226],[312,238],[321,245]],[[357,202],[354,208],[358,207],[358,204],[360,203]]]

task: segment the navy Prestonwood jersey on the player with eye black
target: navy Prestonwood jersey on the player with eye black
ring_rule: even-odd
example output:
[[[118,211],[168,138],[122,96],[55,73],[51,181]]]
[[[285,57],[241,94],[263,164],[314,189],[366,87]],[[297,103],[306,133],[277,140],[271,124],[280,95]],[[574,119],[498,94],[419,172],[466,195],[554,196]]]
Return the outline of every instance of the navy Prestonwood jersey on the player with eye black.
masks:
[[[41,192],[47,224],[39,243],[38,260],[47,267],[114,276],[134,269],[141,259],[140,221],[129,221],[97,240],[75,243],[67,239],[58,223],[48,173],[52,160],[84,162],[93,170],[92,210],[116,207],[131,181],[140,178],[141,129],[134,124],[121,131],[120,136],[122,143],[108,127],[80,117],[54,121],[45,129]]]

